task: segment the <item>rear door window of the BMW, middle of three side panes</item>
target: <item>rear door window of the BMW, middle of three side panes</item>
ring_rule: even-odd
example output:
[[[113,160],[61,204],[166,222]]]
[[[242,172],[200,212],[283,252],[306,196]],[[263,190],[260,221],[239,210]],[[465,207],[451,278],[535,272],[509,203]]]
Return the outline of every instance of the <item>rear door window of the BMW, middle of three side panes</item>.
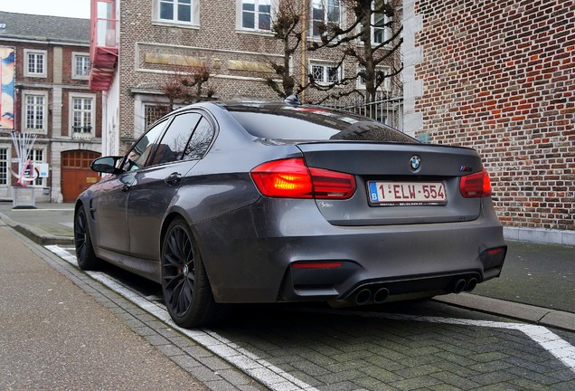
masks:
[[[176,116],[166,130],[164,138],[158,144],[154,159],[148,166],[180,160],[184,155],[190,136],[192,136],[193,129],[201,118],[202,116],[198,113],[185,113]]]

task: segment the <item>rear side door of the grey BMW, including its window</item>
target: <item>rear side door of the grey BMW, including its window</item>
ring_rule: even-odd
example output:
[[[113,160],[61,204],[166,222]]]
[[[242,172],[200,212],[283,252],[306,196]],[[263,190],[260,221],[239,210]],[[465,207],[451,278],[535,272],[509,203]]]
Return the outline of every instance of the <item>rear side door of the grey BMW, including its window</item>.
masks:
[[[159,260],[160,230],[165,213],[180,181],[197,162],[198,157],[191,153],[191,146],[202,133],[205,122],[203,115],[194,111],[174,116],[148,167],[137,173],[137,180],[129,190],[127,208],[133,256]],[[212,138],[208,146],[211,141]]]

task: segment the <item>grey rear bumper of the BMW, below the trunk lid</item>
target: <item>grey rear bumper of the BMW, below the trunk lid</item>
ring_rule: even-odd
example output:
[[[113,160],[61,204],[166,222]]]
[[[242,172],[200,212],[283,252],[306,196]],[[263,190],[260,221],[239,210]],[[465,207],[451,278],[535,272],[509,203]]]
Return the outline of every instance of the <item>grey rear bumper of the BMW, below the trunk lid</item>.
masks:
[[[193,230],[220,302],[433,296],[497,277],[506,249],[493,208],[471,222],[350,227],[307,200],[262,199]],[[294,267],[306,262],[318,267]]]

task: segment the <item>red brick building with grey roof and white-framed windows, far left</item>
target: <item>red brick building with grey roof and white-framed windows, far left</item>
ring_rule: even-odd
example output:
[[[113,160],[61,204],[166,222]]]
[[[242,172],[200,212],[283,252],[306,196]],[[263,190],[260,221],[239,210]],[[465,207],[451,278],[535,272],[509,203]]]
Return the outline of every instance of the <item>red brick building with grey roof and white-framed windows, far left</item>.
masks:
[[[49,167],[26,186],[35,199],[74,201],[97,179],[89,165],[101,150],[101,93],[88,86],[90,21],[0,12],[0,47],[12,61],[3,89],[14,96],[14,110],[3,110],[10,125],[0,129],[0,198],[20,187],[14,131],[35,136],[29,158]]]

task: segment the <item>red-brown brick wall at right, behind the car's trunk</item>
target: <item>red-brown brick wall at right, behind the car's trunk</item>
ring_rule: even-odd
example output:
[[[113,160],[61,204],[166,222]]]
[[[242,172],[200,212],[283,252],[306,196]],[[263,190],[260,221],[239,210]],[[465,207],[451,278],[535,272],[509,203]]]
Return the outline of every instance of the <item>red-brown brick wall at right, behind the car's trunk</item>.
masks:
[[[431,142],[476,148],[509,227],[575,230],[575,2],[414,2]]]

